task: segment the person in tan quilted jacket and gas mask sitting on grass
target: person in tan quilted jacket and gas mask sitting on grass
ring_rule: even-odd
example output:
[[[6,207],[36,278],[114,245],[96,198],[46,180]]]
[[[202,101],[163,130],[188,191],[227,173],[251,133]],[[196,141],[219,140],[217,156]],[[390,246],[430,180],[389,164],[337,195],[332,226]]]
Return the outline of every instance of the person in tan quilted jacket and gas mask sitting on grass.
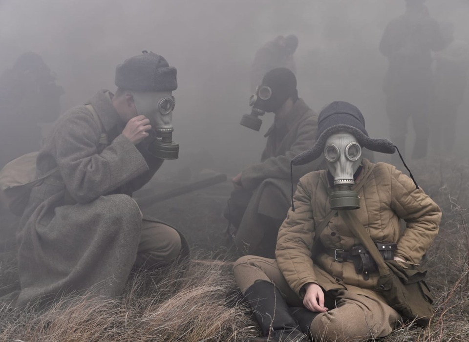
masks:
[[[316,143],[292,164],[323,155],[327,170],[300,179],[278,232],[276,259],[243,256],[235,262],[236,282],[263,336],[271,334],[269,341],[306,342],[308,335],[313,341],[366,341],[390,334],[401,318],[374,290],[376,264],[344,213],[356,215],[371,239],[385,247],[380,251],[385,260],[405,265],[418,264],[430,247],[441,210],[394,166],[363,158],[364,147],[395,151],[390,141],[368,136],[357,107],[347,102],[325,107]],[[400,219],[406,222],[403,233]]]

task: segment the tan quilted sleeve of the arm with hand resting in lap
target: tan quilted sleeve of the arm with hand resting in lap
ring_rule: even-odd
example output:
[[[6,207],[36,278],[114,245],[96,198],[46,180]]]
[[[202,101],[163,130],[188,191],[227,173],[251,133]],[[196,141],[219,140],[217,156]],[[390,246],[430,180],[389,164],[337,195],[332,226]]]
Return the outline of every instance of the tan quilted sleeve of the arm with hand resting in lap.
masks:
[[[311,193],[301,180],[293,200],[295,212],[290,208],[278,231],[275,256],[288,284],[301,296],[303,285],[309,282],[317,283],[311,259],[315,237]]]

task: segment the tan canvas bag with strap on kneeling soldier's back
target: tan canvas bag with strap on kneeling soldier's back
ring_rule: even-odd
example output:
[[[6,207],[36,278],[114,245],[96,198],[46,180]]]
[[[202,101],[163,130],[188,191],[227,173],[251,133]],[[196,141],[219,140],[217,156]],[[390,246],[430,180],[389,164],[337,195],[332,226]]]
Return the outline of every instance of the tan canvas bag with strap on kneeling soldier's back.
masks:
[[[103,125],[94,108],[87,104],[85,107],[93,114],[94,121],[103,132]],[[101,133],[100,144],[107,144],[107,134]],[[21,216],[29,201],[31,190],[39,185],[46,177],[58,172],[54,168],[41,177],[36,178],[36,159],[39,152],[23,154],[13,159],[0,170],[0,190],[3,192],[2,200],[10,211]]]

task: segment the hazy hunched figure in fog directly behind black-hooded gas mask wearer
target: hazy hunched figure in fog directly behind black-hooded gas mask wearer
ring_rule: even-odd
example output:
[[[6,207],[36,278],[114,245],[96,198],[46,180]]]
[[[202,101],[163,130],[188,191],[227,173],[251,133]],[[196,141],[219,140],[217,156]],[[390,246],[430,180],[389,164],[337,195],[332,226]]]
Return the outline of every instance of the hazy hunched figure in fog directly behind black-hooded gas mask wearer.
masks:
[[[294,54],[298,47],[297,36],[278,36],[273,41],[265,43],[256,52],[253,65],[251,66],[251,92],[256,91],[264,75],[275,68],[285,67],[294,74],[297,73]]]

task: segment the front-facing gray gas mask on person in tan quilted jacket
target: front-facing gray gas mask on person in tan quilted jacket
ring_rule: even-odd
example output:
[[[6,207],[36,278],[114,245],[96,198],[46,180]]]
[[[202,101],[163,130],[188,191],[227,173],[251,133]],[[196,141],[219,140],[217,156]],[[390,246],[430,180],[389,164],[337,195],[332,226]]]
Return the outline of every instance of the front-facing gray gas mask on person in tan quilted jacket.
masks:
[[[352,190],[353,175],[362,163],[362,147],[352,134],[340,132],[330,135],[325,143],[327,169],[334,176],[334,191],[329,195],[331,209],[360,208],[358,193]]]

